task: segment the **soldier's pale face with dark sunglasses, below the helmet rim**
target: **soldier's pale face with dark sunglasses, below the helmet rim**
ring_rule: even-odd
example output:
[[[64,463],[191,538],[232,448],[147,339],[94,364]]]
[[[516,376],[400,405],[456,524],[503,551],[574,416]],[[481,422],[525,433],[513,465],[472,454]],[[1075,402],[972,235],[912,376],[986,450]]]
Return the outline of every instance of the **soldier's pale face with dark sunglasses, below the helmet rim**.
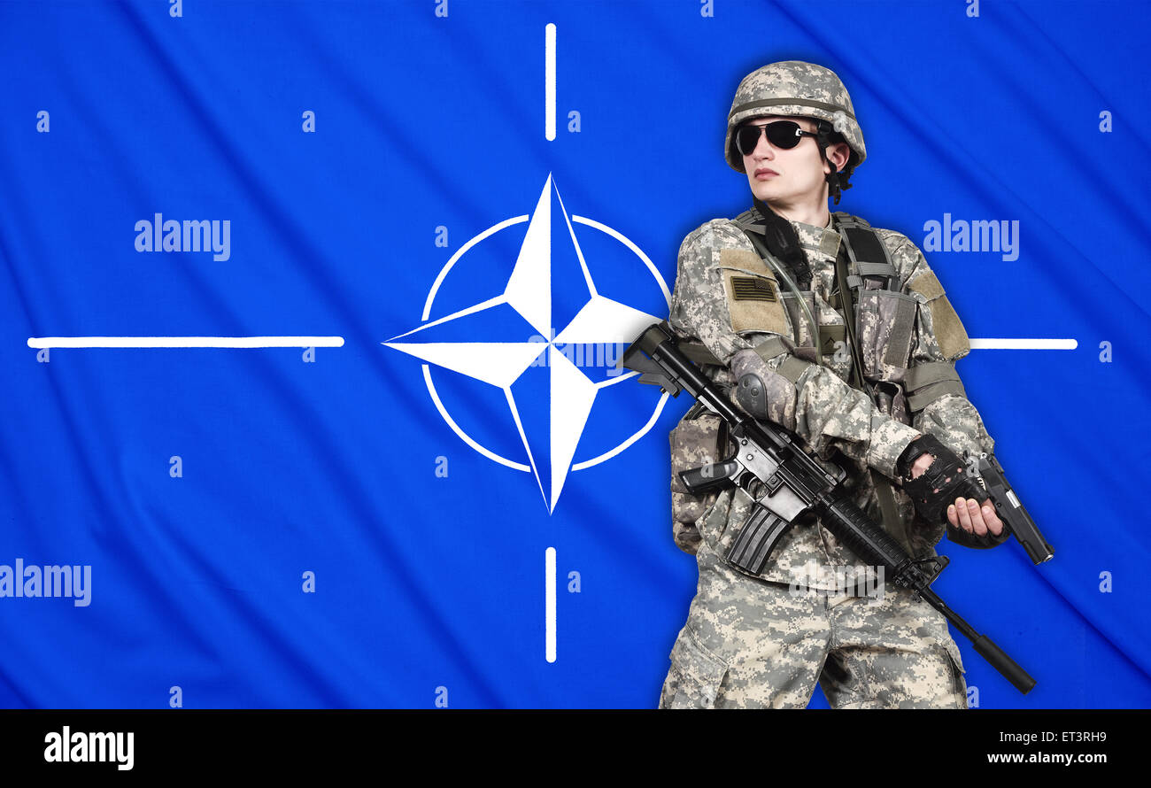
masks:
[[[753,117],[745,125],[767,125],[773,121],[795,121],[803,131],[815,131],[815,121],[809,117],[770,115]],[[793,206],[817,200],[826,200],[826,181],[830,171],[820,155],[815,137],[803,137],[793,148],[779,148],[760,132],[760,141],[750,154],[744,156],[744,169],[752,193],[771,206]]]

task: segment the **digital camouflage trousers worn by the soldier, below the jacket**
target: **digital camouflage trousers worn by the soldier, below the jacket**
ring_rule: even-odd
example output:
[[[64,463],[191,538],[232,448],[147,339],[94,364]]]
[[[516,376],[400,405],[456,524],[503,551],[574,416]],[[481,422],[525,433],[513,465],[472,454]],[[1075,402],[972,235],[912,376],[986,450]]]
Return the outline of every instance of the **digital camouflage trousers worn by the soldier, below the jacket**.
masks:
[[[706,545],[661,709],[967,709],[942,613],[887,583],[882,599],[792,590],[732,569]],[[830,592],[834,594],[834,592]]]

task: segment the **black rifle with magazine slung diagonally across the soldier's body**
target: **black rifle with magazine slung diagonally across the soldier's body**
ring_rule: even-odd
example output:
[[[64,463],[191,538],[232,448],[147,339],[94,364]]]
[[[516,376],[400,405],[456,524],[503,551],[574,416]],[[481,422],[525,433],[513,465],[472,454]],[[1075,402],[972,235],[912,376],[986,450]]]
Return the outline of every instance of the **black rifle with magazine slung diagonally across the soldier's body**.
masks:
[[[843,468],[816,461],[803,450],[801,438],[785,428],[757,421],[737,410],[719,387],[688,360],[666,323],[645,330],[624,352],[623,366],[641,373],[640,382],[657,384],[672,397],[687,391],[727,423],[735,453],[723,462],[680,474],[693,494],[734,484],[755,500],[755,513],[735,536],[727,561],[759,574],[779,537],[801,513],[811,510],[852,552],[885,567],[895,584],[915,591],[943,613],[1019,691],[1026,695],[1035,687],[1035,679],[1027,671],[991,638],[975,632],[930,589],[946,566],[946,558],[916,561],[908,556],[883,527],[847,499],[839,484],[846,476]]]

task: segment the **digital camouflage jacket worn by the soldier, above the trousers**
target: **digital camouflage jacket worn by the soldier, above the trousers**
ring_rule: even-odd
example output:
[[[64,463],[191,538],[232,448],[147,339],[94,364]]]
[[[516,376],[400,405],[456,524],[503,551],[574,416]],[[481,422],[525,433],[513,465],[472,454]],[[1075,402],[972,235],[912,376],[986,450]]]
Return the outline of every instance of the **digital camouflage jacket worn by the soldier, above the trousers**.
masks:
[[[845,219],[861,221],[837,213],[833,227]],[[883,382],[877,406],[846,382],[853,360],[846,342],[837,341],[844,337],[844,318],[832,306],[839,304],[834,260],[840,235],[834,229],[792,224],[811,265],[813,290],[802,294],[821,327],[823,366],[811,364],[817,342],[794,296],[775,281],[747,235],[731,220],[712,220],[684,239],[669,323],[681,338],[701,342],[723,362],[704,367],[721,385],[731,387],[737,380],[733,361],[738,374],[746,372],[740,365],[746,366],[748,358],[759,365],[771,420],[798,433],[824,459],[838,462],[847,472],[844,484],[855,505],[882,522],[872,474],[893,479],[899,456],[922,433],[960,456],[992,451],[983,420],[954,374],[954,361],[970,351],[967,334],[918,247],[899,232],[874,228],[899,278],[898,291],[868,290],[855,306],[864,376]],[[777,297],[767,299],[763,290],[769,296],[773,290]],[[778,342],[768,343],[773,350],[765,350],[764,343],[772,337],[783,337],[788,352],[777,352]],[[740,352],[756,347],[762,357]],[[672,433],[673,470],[726,456],[727,446],[717,445],[724,439],[716,438],[718,431],[718,419],[712,415],[681,421]],[[898,522],[894,528],[889,525],[889,530],[916,558],[935,556],[933,545],[946,525],[924,521],[899,483],[892,487]],[[752,508],[750,498],[738,489],[695,498],[673,477],[672,494],[676,542],[692,553],[702,540],[724,554]],[[826,589],[830,586],[813,576],[810,565],[841,567],[862,561],[814,515],[805,518],[782,538],[759,576]]]

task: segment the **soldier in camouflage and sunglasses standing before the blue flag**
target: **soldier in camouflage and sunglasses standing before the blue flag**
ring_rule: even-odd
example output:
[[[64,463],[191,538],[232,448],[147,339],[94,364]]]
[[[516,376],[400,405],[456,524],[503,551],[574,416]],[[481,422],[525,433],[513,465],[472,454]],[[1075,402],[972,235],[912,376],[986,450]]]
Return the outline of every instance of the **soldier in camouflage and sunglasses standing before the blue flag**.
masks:
[[[684,240],[669,316],[681,343],[698,343],[703,369],[750,415],[845,468],[853,503],[914,558],[933,557],[945,531],[966,546],[1003,543],[962,473],[962,457],[993,441],[955,374],[970,345],[939,280],[906,236],[828,209],[867,156],[843,82],[800,61],[748,75],[724,154],[754,207]],[[726,444],[698,408],[672,433],[674,537],[696,554],[699,587],[661,707],[805,707],[818,681],[838,709],[966,709],[946,619],[885,587],[882,567],[855,567],[815,515],[757,575],[724,560],[750,497],[695,498],[676,472],[723,459]],[[843,567],[878,582],[844,583]]]

